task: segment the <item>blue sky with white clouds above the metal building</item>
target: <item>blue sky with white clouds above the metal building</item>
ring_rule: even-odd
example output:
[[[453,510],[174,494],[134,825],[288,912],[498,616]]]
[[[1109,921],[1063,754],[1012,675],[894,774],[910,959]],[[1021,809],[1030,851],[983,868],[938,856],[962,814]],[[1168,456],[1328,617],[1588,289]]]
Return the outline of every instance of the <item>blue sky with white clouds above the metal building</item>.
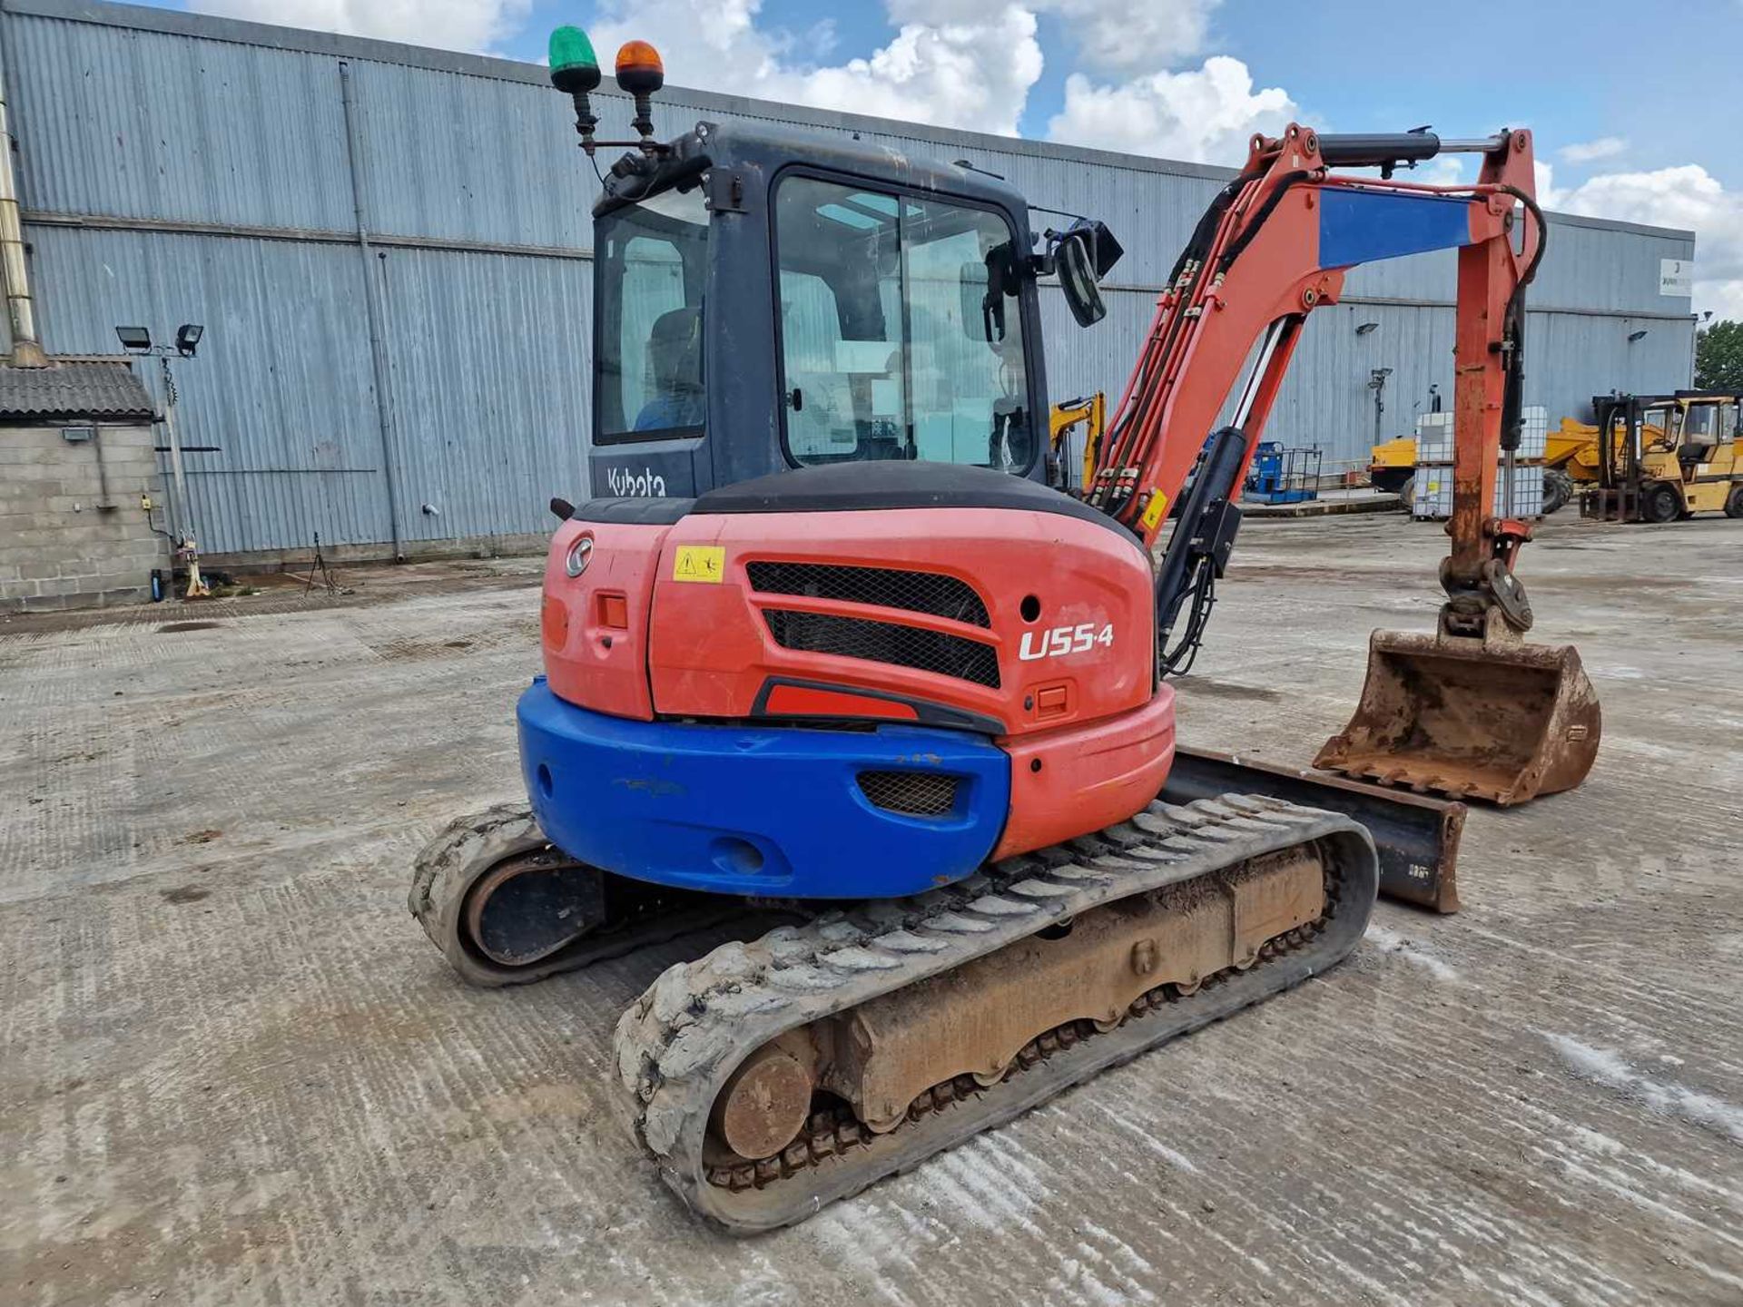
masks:
[[[678,85],[1211,164],[1292,117],[1529,125],[1539,199],[1694,228],[1696,310],[1743,319],[1743,0],[159,2],[518,59],[580,23]]]

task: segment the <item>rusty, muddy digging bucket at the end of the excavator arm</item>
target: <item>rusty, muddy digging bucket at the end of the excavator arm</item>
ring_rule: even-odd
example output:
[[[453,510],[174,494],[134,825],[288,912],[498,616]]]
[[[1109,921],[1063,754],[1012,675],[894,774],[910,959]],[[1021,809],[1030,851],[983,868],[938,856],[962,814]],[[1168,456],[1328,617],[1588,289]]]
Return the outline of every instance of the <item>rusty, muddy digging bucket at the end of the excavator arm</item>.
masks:
[[[1506,807],[1584,781],[1600,732],[1572,645],[1375,631],[1356,716],[1312,765]]]

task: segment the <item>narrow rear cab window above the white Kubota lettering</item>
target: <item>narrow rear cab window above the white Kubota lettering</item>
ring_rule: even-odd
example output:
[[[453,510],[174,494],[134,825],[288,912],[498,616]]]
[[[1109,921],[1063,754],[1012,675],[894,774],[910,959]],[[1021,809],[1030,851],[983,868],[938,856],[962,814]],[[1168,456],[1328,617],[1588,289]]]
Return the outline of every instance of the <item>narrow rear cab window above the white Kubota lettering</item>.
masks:
[[[600,443],[699,436],[708,209],[701,188],[664,192],[598,223]]]

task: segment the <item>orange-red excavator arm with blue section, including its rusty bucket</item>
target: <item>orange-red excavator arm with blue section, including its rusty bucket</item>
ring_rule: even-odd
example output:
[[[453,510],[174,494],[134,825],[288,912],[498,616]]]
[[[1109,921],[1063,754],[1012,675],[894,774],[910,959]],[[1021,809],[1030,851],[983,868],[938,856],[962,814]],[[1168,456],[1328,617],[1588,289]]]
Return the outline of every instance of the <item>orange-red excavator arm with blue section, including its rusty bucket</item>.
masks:
[[[1475,183],[1391,176],[1448,148],[1482,155]],[[1330,173],[1339,164],[1382,176]],[[1314,765],[1495,803],[1584,779],[1597,756],[1597,695],[1570,647],[1522,641],[1532,612],[1513,565],[1532,532],[1492,512],[1497,469],[1518,448],[1525,286],[1544,235],[1525,131],[1445,143],[1290,125],[1279,138],[1253,138],[1246,169],[1206,211],[1157,300],[1086,491],[1145,544],[1157,542],[1173,511],[1178,525],[1156,584],[1164,673],[1183,671],[1197,650],[1239,526],[1238,488],[1307,315],[1339,301],[1358,263],[1457,249],[1447,601],[1431,636],[1373,633],[1361,704]],[[1238,382],[1232,416],[1217,430]]]

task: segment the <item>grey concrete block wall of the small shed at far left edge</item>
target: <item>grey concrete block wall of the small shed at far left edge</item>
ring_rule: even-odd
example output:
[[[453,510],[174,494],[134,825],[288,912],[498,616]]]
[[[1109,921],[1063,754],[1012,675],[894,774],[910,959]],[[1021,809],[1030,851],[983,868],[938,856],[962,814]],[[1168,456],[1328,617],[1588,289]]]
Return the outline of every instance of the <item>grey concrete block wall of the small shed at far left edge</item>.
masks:
[[[150,491],[164,525],[153,443],[150,425],[98,425],[94,441],[68,441],[59,425],[0,427],[0,612],[150,598],[152,568],[169,568],[169,542],[139,509]]]

